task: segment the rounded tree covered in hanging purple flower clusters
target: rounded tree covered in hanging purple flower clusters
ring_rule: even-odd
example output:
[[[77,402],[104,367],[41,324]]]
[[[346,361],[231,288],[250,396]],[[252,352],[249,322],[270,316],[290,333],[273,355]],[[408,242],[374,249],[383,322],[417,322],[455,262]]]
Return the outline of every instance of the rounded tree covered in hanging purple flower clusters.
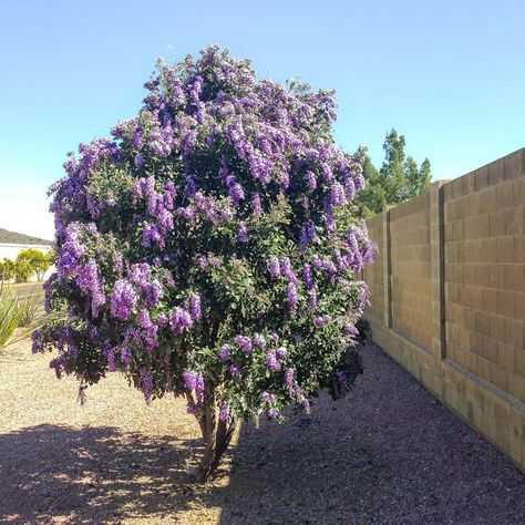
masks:
[[[56,274],[33,351],[84,385],[122,371],[200,425],[206,480],[235,423],[348,384],[372,258],[352,219],[363,152],[331,134],[334,99],[258,81],[210,47],[158,65],[138,115],[82,144],[51,189]]]

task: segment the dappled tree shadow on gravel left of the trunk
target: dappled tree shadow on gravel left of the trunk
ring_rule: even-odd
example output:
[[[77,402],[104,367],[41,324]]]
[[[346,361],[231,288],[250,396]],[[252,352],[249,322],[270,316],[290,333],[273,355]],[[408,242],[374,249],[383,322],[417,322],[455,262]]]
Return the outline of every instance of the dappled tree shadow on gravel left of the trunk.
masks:
[[[195,500],[198,441],[112,428],[40,425],[0,435],[0,523],[120,522],[173,516]]]

